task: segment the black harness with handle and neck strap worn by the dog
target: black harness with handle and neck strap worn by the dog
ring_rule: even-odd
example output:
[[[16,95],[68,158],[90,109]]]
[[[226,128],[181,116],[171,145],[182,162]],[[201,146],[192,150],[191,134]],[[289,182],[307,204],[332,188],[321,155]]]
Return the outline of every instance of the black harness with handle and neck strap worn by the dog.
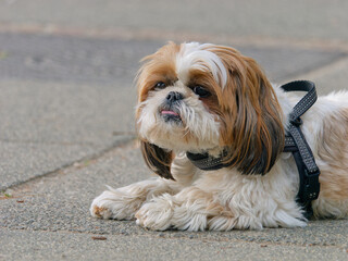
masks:
[[[311,202],[318,199],[320,192],[320,171],[311,148],[301,132],[302,120],[300,116],[316,101],[315,85],[309,80],[296,80],[285,84],[281,88],[285,91],[307,91],[306,96],[294,107],[289,114],[289,126],[285,135],[284,152],[291,152],[294,156],[300,177],[296,200],[306,210],[306,217],[309,219],[313,214]],[[213,171],[231,165],[223,163],[223,158],[226,154],[214,158],[208,153],[197,154],[186,152],[186,156],[195,166],[203,171]]]

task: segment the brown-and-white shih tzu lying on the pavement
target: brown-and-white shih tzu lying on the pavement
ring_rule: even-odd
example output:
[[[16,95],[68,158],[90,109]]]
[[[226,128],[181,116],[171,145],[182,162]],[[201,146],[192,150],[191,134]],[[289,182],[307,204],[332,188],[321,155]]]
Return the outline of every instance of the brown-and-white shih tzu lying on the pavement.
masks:
[[[170,42],[144,59],[137,85],[141,151],[160,177],[109,187],[94,200],[94,216],[156,231],[306,225],[298,170],[283,152],[299,98],[272,86],[254,60],[229,47]],[[319,98],[302,122],[321,171],[313,216],[345,217],[348,92]],[[200,170],[196,154],[223,166]]]

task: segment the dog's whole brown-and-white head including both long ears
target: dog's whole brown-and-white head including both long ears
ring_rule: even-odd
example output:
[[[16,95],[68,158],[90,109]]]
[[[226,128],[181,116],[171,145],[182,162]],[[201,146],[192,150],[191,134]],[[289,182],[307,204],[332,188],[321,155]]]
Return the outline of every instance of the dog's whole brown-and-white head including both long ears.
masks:
[[[170,42],[144,59],[137,127],[147,164],[172,178],[173,153],[214,156],[266,173],[283,149],[281,110],[258,64],[233,48]]]

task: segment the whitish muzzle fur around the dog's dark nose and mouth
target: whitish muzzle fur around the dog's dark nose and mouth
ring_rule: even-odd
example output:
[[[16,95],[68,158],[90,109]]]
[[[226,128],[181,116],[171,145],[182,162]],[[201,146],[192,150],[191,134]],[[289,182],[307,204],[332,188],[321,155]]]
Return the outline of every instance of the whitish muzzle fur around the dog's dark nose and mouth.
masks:
[[[160,116],[159,107],[165,100],[170,91],[178,91],[185,99],[177,104],[183,119],[183,126],[175,123],[166,123]],[[139,104],[142,113],[138,119],[139,135],[150,142],[174,151],[201,151],[219,146],[220,123],[216,116],[207,111],[203,103],[194,95],[188,87],[181,82],[173,87],[152,91],[146,101]],[[188,144],[177,144],[187,134],[197,137]],[[173,141],[173,142],[172,142]]]

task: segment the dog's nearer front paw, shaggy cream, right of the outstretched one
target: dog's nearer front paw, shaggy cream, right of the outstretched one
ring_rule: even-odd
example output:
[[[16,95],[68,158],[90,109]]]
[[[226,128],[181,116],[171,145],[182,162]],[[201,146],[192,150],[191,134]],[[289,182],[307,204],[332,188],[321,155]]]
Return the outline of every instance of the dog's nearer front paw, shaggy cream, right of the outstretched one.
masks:
[[[164,194],[145,203],[135,214],[137,224],[152,231],[165,231],[172,226],[174,211],[172,196]]]

